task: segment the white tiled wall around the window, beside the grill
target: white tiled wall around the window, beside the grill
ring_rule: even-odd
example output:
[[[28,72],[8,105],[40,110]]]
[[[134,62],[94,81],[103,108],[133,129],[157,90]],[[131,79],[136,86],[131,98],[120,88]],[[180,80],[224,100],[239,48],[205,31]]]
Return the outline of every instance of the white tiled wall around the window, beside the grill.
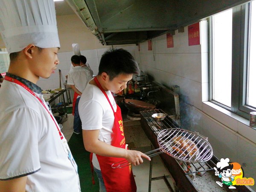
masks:
[[[248,126],[247,119],[207,102],[207,21],[200,24],[201,45],[188,46],[187,26],[184,32],[175,31],[173,48],[167,48],[166,35],[152,39],[152,51],[148,51],[147,41],[141,43],[140,69],[158,83],[180,86],[183,128],[208,137],[216,157],[246,163],[245,176],[256,180],[256,130]],[[256,186],[252,188],[256,190]]]

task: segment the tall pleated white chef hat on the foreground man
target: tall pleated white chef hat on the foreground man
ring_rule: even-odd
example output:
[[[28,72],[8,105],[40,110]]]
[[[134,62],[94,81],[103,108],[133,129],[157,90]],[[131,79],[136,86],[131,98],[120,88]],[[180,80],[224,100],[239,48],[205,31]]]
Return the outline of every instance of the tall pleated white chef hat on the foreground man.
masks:
[[[0,0],[0,32],[9,53],[60,47],[53,0]]]

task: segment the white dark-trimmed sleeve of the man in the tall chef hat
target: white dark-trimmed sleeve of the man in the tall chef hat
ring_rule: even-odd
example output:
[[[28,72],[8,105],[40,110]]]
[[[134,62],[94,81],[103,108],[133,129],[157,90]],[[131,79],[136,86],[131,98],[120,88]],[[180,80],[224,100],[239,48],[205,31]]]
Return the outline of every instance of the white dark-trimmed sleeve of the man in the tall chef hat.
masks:
[[[42,122],[30,108],[5,114],[0,129],[0,180],[33,174],[40,170],[38,140]]]

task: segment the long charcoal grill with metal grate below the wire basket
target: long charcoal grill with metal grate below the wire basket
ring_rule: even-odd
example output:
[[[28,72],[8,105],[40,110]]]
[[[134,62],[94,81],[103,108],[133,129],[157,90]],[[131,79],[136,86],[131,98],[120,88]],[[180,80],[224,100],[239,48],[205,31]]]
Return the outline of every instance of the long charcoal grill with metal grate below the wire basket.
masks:
[[[151,141],[151,144],[154,146],[154,148],[159,148],[157,136],[161,131],[169,128],[177,128],[177,129],[183,130],[183,128],[177,122],[175,122],[175,120],[172,119],[170,116],[166,116],[166,118],[163,119],[162,121],[155,121],[151,117],[152,114],[154,113],[166,113],[166,112],[164,112],[161,109],[140,111],[140,116],[141,116],[140,121],[145,134],[147,135],[148,139]],[[186,131],[186,132],[189,132],[189,131]],[[195,136],[197,136],[197,134],[195,134]],[[190,138],[192,138],[192,136]],[[214,175],[215,171],[213,167],[216,167],[216,163],[219,162],[219,160],[214,155],[212,155],[212,157],[209,160],[205,162],[199,162],[199,163],[198,162],[187,163],[184,160],[177,160],[166,153],[161,153],[160,157],[163,163],[165,164],[166,168],[168,169],[168,171],[170,172],[170,174],[175,180],[176,191],[189,191],[189,192],[228,191],[228,192],[231,192],[231,190],[228,189],[226,186],[223,186],[221,188],[215,183],[215,180],[218,180],[218,177]],[[200,173],[204,175],[202,177],[195,175]],[[151,180],[154,180],[154,178],[151,178],[151,175],[150,175],[149,191],[151,190],[151,187],[150,187]],[[251,192],[251,190],[248,189],[247,186],[236,186],[236,189],[238,191]],[[172,191],[172,189],[170,189],[170,191]]]

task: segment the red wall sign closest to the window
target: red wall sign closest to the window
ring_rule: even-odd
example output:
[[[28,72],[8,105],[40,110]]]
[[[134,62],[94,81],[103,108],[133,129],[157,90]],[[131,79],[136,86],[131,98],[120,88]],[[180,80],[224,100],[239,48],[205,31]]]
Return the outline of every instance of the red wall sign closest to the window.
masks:
[[[200,45],[200,23],[189,25],[189,46]]]

